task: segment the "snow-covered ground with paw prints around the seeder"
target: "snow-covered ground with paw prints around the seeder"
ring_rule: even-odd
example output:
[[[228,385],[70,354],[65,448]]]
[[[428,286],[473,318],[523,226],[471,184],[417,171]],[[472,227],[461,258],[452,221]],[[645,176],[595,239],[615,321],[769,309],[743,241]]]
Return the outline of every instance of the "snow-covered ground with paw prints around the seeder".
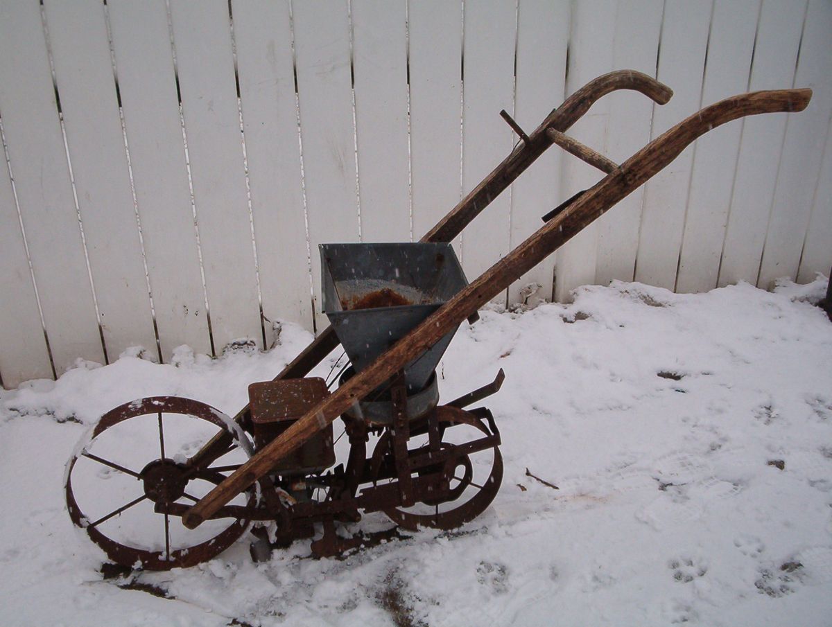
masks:
[[[125,355],[2,391],[0,625],[832,625],[824,290],[617,283],[483,312],[438,371],[448,400],[504,368],[487,403],[501,491],[457,532],[344,560],[299,541],[254,564],[244,536],[204,565],[105,579],[63,500],[64,463],[107,409],[176,394],[233,414],[304,348],[299,328],[269,353]]]

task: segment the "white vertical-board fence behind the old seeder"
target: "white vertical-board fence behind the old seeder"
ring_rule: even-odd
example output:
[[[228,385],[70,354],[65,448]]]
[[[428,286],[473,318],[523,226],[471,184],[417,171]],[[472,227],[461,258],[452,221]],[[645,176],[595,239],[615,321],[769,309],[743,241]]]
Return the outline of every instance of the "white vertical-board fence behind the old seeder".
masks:
[[[511,151],[501,109],[531,131],[613,69],[676,91],[612,94],[571,131],[619,162],[723,97],[815,96],[698,141],[509,301],[812,279],[832,264],[830,34],[830,0],[2,0],[2,385],[320,328],[319,243],[418,239]],[[557,152],[465,230],[469,278],[600,178]]]

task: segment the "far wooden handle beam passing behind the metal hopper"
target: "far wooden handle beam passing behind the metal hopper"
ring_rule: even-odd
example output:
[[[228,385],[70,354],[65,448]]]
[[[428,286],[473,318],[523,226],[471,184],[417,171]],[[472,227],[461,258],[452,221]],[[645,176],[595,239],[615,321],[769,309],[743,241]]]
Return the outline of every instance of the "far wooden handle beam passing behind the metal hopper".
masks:
[[[422,242],[449,242],[463,232],[463,229],[476,218],[491,202],[500,195],[519,175],[532,165],[539,156],[550,146],[552,141],[546,131],[549,128],[566,131],[586,113],[595,101],[618,90],[639,91],[660,105],[665,104],[673,95],[673,90],[662,85],[656,79],[634,70],[619,70],[610,72],[589,81],[585,86],[569,96],[557,109],[546,116],[542,124],[532,132],[528,141],[524,141],[506,157],[500,165],[494,168],[477,187],[440,220],[433,229],[429,230]],[[472,312],[469,322],[477,320],[477,312]],[[338,338],[331,326],[324,328],[318,337],[314,338],[295,359],[275,377],[275,381],[283,378],[305,377],[312,368],[321,363],[329,353],[338,347]],[[245,422],[250,414],[250,407],[246,405],[234,417],[236,422]],[[188,460],[192,467],[205,467],[220,457],[220,450],[230,442],[226,432],[219,432],[206,443],[200,451]]]

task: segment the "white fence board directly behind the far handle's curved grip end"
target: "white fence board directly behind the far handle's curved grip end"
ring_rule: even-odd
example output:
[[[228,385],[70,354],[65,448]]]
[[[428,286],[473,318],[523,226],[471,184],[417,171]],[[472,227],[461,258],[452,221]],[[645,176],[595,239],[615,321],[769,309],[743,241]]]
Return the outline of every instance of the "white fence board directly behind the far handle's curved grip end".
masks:
[[[614,69],[656,76],[662,5],[662,0],[619,0],[612,51]],[[621,163],[650,141],[653,101],[634,91],[618,91],[607,98],[610,114],[606,152]],[[632,280],[643,200],[642,186],[598,220],[595,283]]]

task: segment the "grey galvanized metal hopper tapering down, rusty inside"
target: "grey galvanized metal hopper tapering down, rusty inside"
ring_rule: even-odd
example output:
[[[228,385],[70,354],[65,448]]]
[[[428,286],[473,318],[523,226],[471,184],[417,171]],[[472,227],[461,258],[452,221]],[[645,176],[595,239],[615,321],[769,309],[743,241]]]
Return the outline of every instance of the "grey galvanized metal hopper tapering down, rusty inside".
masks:
[[[468,284],[450,244],[321,244],[324,314],[361,372]],[[456,329],[404,369],[421,390]]]

